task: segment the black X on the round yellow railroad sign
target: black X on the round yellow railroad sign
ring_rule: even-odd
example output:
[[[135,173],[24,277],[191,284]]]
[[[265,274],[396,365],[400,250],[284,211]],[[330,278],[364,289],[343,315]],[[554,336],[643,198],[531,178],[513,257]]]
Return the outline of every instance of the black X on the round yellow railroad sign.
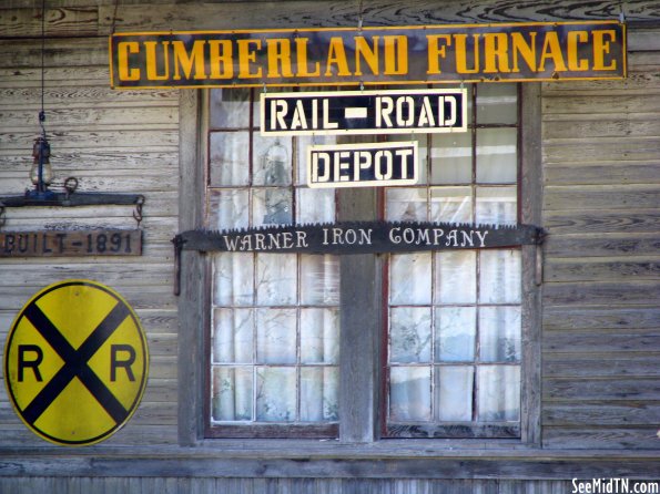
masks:
[[[78,378],[99,401],[101,406],[112,416],[115,423],[122,423],[129,411],[112,394],[108,387],[90,369],[88,361],[110,338],[116,328],[130,316],[124,303],[118,303],[105,319],[92,331],[87,340],[75,350],[50,319],[35,303],[31,303],[23,316],[34,326],[41,336],[62,358],[64,366],[58,371],[41,392],[22,411],[23,419],[34,424],[37,419],[48,409],[52,401],[69,385],[73,378]],[[74,404],[72,405],[74,406]]]

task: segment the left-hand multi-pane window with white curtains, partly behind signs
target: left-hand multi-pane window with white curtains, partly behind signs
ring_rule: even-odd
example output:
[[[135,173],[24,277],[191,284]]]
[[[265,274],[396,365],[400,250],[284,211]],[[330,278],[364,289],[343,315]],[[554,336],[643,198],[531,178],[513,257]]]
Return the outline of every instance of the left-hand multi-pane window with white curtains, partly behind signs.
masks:
[[[207,226],[334,222],[334,192],[303,185],[308,140],[260,137],[254,95],[211,92]],[[220,253],[212,265],[210,435],[336,435],[336,256]]]

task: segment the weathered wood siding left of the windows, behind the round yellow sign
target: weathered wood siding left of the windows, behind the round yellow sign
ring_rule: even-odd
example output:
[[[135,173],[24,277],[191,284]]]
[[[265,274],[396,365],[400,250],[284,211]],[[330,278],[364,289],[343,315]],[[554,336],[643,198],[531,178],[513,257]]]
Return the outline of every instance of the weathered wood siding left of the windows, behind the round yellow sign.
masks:
[[[0,11],[1,12],[1,11]],[[49,39],[45,130],[54,191],[69,176],[80,192],[143,194],[140,257],[3,258],[0,340],[32,295],[63,279],[93,279],[118,290],[146,332],[151,371],[142,404],[109,444],[176,442],[176,301],[172,245],[177,230],[179,92],[109,88],[106,40]],[[0,41],[0,195],[31,187],[31,148],[39,134],[41,41]],[[4,231],[44,228],[135,228],[131,206],[7,208]],[[2,378],[2,370],[0,370]],[[44,446],[11,410],[0,387],[2,446]]]

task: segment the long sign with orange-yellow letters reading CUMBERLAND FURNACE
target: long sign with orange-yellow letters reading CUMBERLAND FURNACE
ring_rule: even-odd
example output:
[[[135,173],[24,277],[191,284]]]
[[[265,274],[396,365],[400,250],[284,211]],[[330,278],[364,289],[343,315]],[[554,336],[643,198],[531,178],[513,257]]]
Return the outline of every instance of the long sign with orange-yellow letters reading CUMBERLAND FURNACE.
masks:
[[[383,85],[626,76],[617,21],[110,37],[112,88]]]

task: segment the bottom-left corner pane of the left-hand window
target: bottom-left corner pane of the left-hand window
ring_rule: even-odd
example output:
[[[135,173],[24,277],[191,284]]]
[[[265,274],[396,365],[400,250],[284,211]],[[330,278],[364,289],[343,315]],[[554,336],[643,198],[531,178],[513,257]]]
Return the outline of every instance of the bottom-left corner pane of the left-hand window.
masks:
[[[213,421],[252,420],[252,368],[214,367]]]

